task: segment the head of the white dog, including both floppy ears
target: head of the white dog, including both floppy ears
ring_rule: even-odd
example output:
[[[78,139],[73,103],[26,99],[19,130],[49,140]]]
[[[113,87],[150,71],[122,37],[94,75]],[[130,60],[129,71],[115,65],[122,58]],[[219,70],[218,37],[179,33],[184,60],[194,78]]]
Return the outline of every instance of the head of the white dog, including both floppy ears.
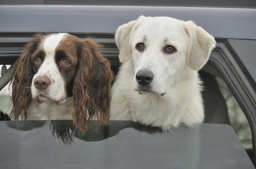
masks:
[[[164,95],[189,72],[207,62],[214,38],[192,21],[169,17],[144,17],[121,25],[116,31],[119,60],[132,58],[133,88]]]

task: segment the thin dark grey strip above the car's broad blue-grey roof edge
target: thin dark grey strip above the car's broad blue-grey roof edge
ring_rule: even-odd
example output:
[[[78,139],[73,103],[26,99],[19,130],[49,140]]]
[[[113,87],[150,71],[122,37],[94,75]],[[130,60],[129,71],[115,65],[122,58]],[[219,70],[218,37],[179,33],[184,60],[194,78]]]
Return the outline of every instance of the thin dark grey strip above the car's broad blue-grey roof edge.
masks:
[[[256,2],[254,0],[26,0],[26,1],[20,1],[20,0],[0,0],[1,4],[97,4],[97,5],[132,5],[132,6],[220,6],[220,7],[247,7],[247,8],[253,8],[256,6]]]

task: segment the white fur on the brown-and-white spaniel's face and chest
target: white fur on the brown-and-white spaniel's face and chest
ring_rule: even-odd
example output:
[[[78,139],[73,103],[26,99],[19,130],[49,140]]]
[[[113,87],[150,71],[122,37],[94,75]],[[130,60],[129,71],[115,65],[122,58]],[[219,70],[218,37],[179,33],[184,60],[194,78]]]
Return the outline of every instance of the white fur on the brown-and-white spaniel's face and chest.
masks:
[[[66,36],[68,36],[67,33],[51,34],[43,39],[39,46],[46,55],[32,80],[31,94],[33,102],[28,109],[27,120],[72,120],[70,110],[72,97],[67,98],[65,81],[54,60],[55,50]],[[51,85],[44,91],[44,97],[40,96],[42,93],[34,85],[35,78],[40,76],[46,76],[51,81]],[[34,101],[35,99],[43,103],[38,104]],[[57,102],[58,105],[54,102]]]

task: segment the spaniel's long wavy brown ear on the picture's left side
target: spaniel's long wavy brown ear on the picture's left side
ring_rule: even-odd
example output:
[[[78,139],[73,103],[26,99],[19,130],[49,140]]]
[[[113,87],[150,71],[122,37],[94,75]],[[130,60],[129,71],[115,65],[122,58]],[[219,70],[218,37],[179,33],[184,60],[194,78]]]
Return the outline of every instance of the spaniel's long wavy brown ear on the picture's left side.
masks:
[[[28,42],[19,59],[13,65],[10,83],[12,85],[13,104],[10,116],[13,120],[19,120],[19,117],[21,120],[27,119],[28,107],[32,101],[30,91],[33,78],[31,56],[43,36],[43,34],[34,35],[34,39]]]

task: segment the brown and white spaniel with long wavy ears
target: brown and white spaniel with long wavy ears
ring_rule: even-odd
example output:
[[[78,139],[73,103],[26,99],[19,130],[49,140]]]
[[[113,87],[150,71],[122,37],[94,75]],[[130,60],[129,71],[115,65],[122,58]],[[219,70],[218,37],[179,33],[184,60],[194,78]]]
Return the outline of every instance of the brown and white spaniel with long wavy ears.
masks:
[[[80,130],[106,123],[113,75],[90,39],[36,34],[13,66],[13,120],[70,120]]]

